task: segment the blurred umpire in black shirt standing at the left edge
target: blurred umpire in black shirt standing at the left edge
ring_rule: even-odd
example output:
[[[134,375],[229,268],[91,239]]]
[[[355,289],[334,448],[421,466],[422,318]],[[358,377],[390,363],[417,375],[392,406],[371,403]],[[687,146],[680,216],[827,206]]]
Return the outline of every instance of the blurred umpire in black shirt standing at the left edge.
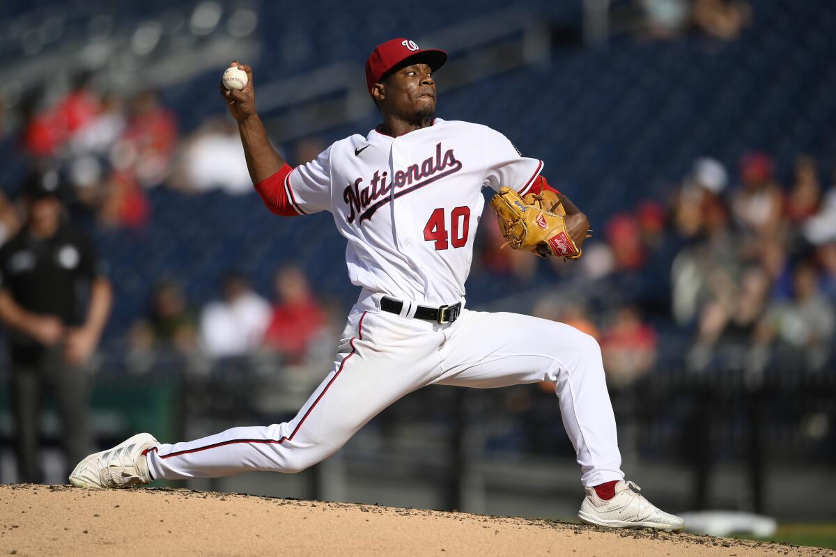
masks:
[[[92,446],[85,364],[110,313],[110,281],[93,246],[66,221],[59,176],[33,175],[24,188],[28,220],[0,248],[0,321],[8,330],[18,479],[38,483],[40,407],[54,394],[69,466]]]

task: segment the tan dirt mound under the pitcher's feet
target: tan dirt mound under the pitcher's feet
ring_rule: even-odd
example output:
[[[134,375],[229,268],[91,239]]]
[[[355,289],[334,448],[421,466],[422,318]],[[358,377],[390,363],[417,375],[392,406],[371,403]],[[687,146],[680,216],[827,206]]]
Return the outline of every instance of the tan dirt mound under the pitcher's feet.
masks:
[[[836,555],[691,534],[183,489],[0,485],[0,555]]]

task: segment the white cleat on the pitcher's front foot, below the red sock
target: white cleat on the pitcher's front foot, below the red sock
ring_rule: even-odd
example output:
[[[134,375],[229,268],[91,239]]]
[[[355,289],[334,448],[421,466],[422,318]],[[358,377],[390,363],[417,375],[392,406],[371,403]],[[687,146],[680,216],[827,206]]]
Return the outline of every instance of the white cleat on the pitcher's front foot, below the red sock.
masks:
[[[635,491],[633,489],[635,489]],[[586,489],[586,498],[580,505],[578,518],[585,524],[597,524],[609,528],[653,528],[676,532],[685,528],[685,520],[668,514],[650,503],[638,492],[641,488],[624,480],[615,484],[613,499],[601,499],[595,489]]]

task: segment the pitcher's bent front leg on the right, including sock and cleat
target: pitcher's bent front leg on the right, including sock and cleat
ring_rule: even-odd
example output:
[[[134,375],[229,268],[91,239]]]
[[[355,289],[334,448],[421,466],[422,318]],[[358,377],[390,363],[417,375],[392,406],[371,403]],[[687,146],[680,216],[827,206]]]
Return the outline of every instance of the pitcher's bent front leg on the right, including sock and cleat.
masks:
[[[442,349],[441,384],[555,383],[563,426],[583,472],[586,497],[578,514],[583,522],[684,528],[681,518],[657,509],[637,493],[637,485],[624,481],[601,350],[593,337],[563,323],[513,313],[466,311],[455,325]]]

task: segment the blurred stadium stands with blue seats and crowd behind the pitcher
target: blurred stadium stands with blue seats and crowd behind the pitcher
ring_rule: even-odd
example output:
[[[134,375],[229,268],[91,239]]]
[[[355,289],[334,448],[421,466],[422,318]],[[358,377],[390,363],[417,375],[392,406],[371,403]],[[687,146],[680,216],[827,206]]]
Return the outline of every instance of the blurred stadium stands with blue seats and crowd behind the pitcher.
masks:
[[[595,230],[584,261],[553,265],[497,252],[485,222],[468,306],[597,334],[624,468],[660,507],[836,519],[821,496],[836,460],[832,3],[6,2],[0,18],[5,237],[25,177],[56,169],[115,286],[93,362],[103,446],[283,420],[319,382],[357,294],[344,241],[329,215],[274,217],[241,180],[218,76],[233,58],[253,66],[274,144],[298,164],[377,124],[364,59],[400,35],[451,53],[437,115],[543,159]],[[223,278],[275,301],[288,265],[322,326],[302,348],[213,354],[201,320]],[[169,321],[161,284],[185,301]],[[301,334],[284,310],[277,330]],[[54,414],[43,428],[54,446]],[[59,452],[45,466],[63,481]],[[439,387],[309,472],[190,487],[569,518],[577,475],[548,388]]]

